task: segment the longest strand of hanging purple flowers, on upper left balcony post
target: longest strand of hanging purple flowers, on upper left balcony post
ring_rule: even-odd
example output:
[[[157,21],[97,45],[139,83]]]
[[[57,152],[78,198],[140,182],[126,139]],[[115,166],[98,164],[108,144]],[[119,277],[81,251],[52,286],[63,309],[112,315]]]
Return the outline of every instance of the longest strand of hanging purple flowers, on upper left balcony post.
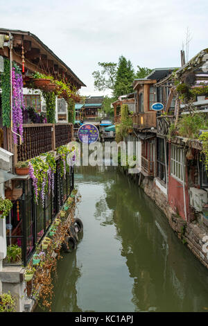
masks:
[[[23,97],[23,80],[19,71],[15,70],[15,67],[12,67],[12,117],[13,117],[13,130],[14,132],[19,133],[23,141],[23,116],[22,109],[24,107],[24,97]],[[12,134],[14,143],[17,144],[17,135]]]

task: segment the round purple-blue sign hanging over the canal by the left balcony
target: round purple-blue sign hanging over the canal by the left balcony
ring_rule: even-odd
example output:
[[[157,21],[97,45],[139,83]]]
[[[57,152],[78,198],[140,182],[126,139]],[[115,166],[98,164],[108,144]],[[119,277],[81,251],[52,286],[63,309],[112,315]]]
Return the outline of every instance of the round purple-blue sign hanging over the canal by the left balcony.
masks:
[[[99,131],[92,123],[85,123],[78,130],[78,139],[83,144],[92,144],[98,140]]]

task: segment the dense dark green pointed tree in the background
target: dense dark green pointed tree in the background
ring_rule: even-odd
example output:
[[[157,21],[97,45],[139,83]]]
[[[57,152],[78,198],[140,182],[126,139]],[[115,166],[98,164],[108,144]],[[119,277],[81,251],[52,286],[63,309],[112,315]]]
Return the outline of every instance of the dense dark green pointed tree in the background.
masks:
[[[116,71],[116,80],[114,83],[114,96],[118,98],[121,95],[133,92],[132,83],[135,79],[135,71],[130,60],[121,55],[119,65]]]

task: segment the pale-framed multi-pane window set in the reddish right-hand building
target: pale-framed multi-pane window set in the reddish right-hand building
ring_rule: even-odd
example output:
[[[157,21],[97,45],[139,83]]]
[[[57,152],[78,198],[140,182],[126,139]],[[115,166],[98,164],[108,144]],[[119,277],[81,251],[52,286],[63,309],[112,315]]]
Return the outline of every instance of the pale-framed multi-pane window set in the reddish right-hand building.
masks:
[[[182,157],[181,157],[182,154]],[[182,181],[182,162],[184,162],[184,151],[181,148],[171,145],[171,175]],[[184,169],[184,164],[183,164]]]

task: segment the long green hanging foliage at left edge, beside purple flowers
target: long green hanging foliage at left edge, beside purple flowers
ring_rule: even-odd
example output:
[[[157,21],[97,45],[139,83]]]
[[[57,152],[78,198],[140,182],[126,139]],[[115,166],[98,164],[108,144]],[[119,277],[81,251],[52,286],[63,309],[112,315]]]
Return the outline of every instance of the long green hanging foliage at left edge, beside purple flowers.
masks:
[[[10,61],[4,58],[4,72],[1,74],[1,106],[3,126],[10,127]]]

